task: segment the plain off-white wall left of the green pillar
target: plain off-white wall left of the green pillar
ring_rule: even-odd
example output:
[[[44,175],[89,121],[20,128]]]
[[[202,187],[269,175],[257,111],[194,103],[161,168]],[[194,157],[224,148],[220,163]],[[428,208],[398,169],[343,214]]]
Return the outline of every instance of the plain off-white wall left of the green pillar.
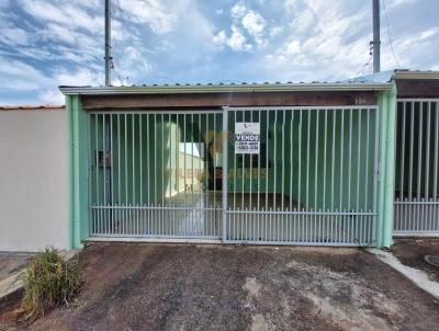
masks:
[[[0,251],[68,247],[64,107],[0,109]]]

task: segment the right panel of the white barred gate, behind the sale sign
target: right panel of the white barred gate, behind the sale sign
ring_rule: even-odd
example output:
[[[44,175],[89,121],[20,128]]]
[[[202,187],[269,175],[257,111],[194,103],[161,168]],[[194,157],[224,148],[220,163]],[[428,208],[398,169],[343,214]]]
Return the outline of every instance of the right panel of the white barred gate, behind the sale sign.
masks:
[[[370,246],[376,224],[378,107],[228,109],[226,240]],[[233,151],[259,123],[259,153]]]

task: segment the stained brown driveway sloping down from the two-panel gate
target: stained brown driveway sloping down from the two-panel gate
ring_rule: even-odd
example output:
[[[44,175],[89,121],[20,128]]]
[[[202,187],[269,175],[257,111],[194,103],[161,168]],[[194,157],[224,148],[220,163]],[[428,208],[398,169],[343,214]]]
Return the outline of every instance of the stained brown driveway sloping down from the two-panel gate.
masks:
[[[81,259],[86,283],[79,305],[53,310],[30,330],[439,326],[434,297],[362,250],[101,244]]]

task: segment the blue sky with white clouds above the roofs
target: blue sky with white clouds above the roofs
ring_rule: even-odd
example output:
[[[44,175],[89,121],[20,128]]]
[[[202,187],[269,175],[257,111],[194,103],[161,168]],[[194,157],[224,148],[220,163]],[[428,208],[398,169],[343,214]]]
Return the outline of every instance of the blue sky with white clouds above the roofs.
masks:
[[[61,104],[59,84],[102,84],[103,2],[0,0],[0,104]],[[439,1],[381,3],[382,70],[439,70]],[[371,71],[371,0],[112,0],[112,9],[113,84]]]

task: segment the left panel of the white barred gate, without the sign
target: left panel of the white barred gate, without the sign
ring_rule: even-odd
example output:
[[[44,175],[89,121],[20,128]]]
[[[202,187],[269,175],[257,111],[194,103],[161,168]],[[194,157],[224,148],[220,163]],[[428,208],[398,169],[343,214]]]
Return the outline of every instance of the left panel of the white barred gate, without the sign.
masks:
[[[219,239],[222,112],[89,119],[91,237]]]

